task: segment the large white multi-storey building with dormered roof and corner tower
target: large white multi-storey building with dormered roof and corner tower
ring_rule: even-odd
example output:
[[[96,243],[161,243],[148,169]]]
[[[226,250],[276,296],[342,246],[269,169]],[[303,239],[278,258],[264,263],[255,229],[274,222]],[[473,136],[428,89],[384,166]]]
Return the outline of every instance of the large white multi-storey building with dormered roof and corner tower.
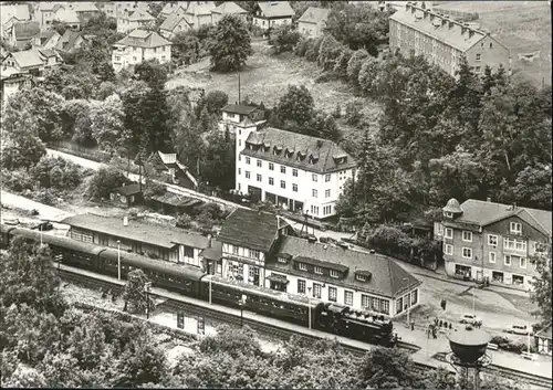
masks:
[[[335,204],[356,162],[335,143],[251,120],[236,125],[237,188],[252,202],[270,201],[316,219],[336,213]]]

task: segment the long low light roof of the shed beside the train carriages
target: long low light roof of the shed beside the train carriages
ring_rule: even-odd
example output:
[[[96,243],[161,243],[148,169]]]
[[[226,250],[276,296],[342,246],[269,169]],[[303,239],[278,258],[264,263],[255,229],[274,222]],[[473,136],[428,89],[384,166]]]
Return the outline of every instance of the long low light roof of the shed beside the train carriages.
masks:
[[[123,219],[94,214],[67,217],[60,221],[60,223],[167,249],[173,249],[177,244],[202,249],[207,246],[208,241],[200,233],[184,229],[161,226],[134,220],[128,220],[128,225],[124,226]]]

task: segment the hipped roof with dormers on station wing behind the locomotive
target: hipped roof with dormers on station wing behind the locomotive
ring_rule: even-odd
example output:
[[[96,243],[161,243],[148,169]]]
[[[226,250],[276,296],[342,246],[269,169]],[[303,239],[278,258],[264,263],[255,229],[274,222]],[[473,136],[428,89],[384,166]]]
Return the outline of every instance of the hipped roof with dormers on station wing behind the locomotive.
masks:
[[[291,254],[292,260],[302,261],[302,259],[309,257],[319,260],[322,262],[321,264],[333,263],[344,268],[347,267],[348,272],[345,278],[342,280],[314,274],[309,274],[309,277],[321,278],[333,285],[365,291],[386,297],[396,297],[406,293],[409,286],[414,287],[420,284],[417,278],[388,256],[352,251],[317,242],[312,243],[301,238],[282,236],[274,253]],[[265,263],[265,267],[283,273],[307,275],[306,272],[294,270],[293,261],[284,264],[278,262],[276,259],[270,259]],[[372,276],[366,282],[359,282],[355,278],[356,271],[371,272]]]

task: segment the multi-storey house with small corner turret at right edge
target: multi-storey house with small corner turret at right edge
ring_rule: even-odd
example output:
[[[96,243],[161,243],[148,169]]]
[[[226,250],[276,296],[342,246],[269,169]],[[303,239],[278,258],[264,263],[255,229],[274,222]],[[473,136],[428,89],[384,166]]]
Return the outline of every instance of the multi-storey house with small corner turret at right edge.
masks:
[[[442,210],[437,234],[448,274],[531,288],[531,259],[551,245],[551,211],[473,199],[451,199]]]

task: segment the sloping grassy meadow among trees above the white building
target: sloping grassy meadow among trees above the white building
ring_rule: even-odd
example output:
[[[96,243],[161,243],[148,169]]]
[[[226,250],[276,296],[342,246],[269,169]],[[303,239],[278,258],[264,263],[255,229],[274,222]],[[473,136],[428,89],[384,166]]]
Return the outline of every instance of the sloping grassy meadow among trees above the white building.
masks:
[[[376,127],[379,106],[368,99],[355,97],[352,87],[346,83],[332,81],[315,84],[315,77],[321,74],[316,64],[296,57],[292,53],[273,55],[267,41],[252,42],[252,48],[254,54],[248,59],[247,65],[240,72],[242,99],[249,96],[255,103],[263,102],[267,107],[273,107],[285,94],[289,85],[303,84],[310,89],[316,108],[330,114],[340,103],[342,110],[345,112],[346,103],[361,102],[364,107],[362,113]],[[238,101],[238,74],[209,72],[209,59],[177,71],[167,82],[167,87],[174,88],[178,85],[202,87],[207,93],[219,89],[229,96],[229,102]],[[347,126],[341,127],[344,133],[355,131]]]

